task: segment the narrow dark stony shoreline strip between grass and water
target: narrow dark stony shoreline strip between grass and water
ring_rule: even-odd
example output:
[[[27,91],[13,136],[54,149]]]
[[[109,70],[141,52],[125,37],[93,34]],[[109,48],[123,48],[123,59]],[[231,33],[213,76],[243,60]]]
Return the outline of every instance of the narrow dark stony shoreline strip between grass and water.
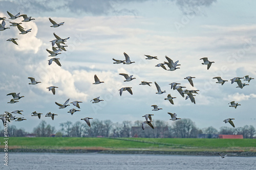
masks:
[[[148,154],[148,155],[187,155],[217,156],[216,151],[148,151],[148,150],[85,150],[85,149],[10,149],[9,153],[98,153],[98,154]],[[222,152],[223,153],[223,152]],[[229,157],[256,157],[256,152],[225,152]]]

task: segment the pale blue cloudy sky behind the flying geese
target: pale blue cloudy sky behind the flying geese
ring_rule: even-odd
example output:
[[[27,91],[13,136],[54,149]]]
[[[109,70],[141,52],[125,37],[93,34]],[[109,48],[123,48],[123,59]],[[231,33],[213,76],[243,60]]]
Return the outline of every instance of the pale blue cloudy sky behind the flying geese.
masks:
[[[223,122],[226,118],[235,118],[236,127],[255,127],[256,80],[243,89],[230,82],[246,75],[256,78],[255,5],[255,1],[228,0],[0,1],[0,17],[9,18],[9,11],[35,18],[22,22],[25,30],[32,28],[25,35],[20,35],[15,27],[0,31],[1,112],[23,110],[27,120],[9,125],[28,132],[41,120],[58,130],[60,123],[75,123],[84,117],[110,119],[113,123],[143,122],[142,116],[148,113],[154,114],[153,122],[159,119],[172,126],[174,122],[167,112],[177,113],[181,119],[190,118],[200,129],[231,127]],[[49,17],[65,23],[51,28]],[[11,21],[21,20],[22,17]],[[9,26],[6,22],[6,27]],[[67,52],[57,56],[61,67],[56,63],[48,65],[51,58],[46,48],[51,50],[49,41],[55,39],[53,33],[61,38],[70,37]],[[18,38],[19,45],[6,41],[9,38]],[[124,60],[124,52],[135,63],[113,64],[112,58]],[[144,55],[157,56],[159,60],[145,60]],[[167,71],[156,67],[166,61],[165,55],[179,60],[180,69]],[[215,61],[209,70],[201,64],[203,57]],[[136,79],[123,82],[120,73],[134,75]],[[94,85],[95,74],[104,83]],[[184,79],[187,76],[196,77],[194,87]],[[212,79],[217,76],[228,82],[223,86],[217,84]],[[28,77],[41,83],[29,85]],[[139,85],[141,81],[153,84]],[[166,93],[156,94],[154,82]],[[195,96],[196,104],[170,89],[168,84],[172,82],[181,83],[188,90],[200,90]],[[59,87],[55,95],[48,91],[49,86]],[[132,87],[133,95],[123,91],[120,96],[118,90],[122,87]],[[9,104],[12,97],[6,94],[11,92],[20,92],[25,97]],[[174,105],[164,100],[167,94],[176,97]],[[98,96],[104,101],[90,102]],[[55,102],[63,104],[67,99],[82,101],[81,111],[67,113],[75,108],[72,104],[58,109]],[[241,106],[231,108],[231,101]],[[151,105],[162,110],[152,111]],[[43,113],[41,119],[32,117],[33,111]],[[54,120],[45,117],[50,111],[58,114]]]

